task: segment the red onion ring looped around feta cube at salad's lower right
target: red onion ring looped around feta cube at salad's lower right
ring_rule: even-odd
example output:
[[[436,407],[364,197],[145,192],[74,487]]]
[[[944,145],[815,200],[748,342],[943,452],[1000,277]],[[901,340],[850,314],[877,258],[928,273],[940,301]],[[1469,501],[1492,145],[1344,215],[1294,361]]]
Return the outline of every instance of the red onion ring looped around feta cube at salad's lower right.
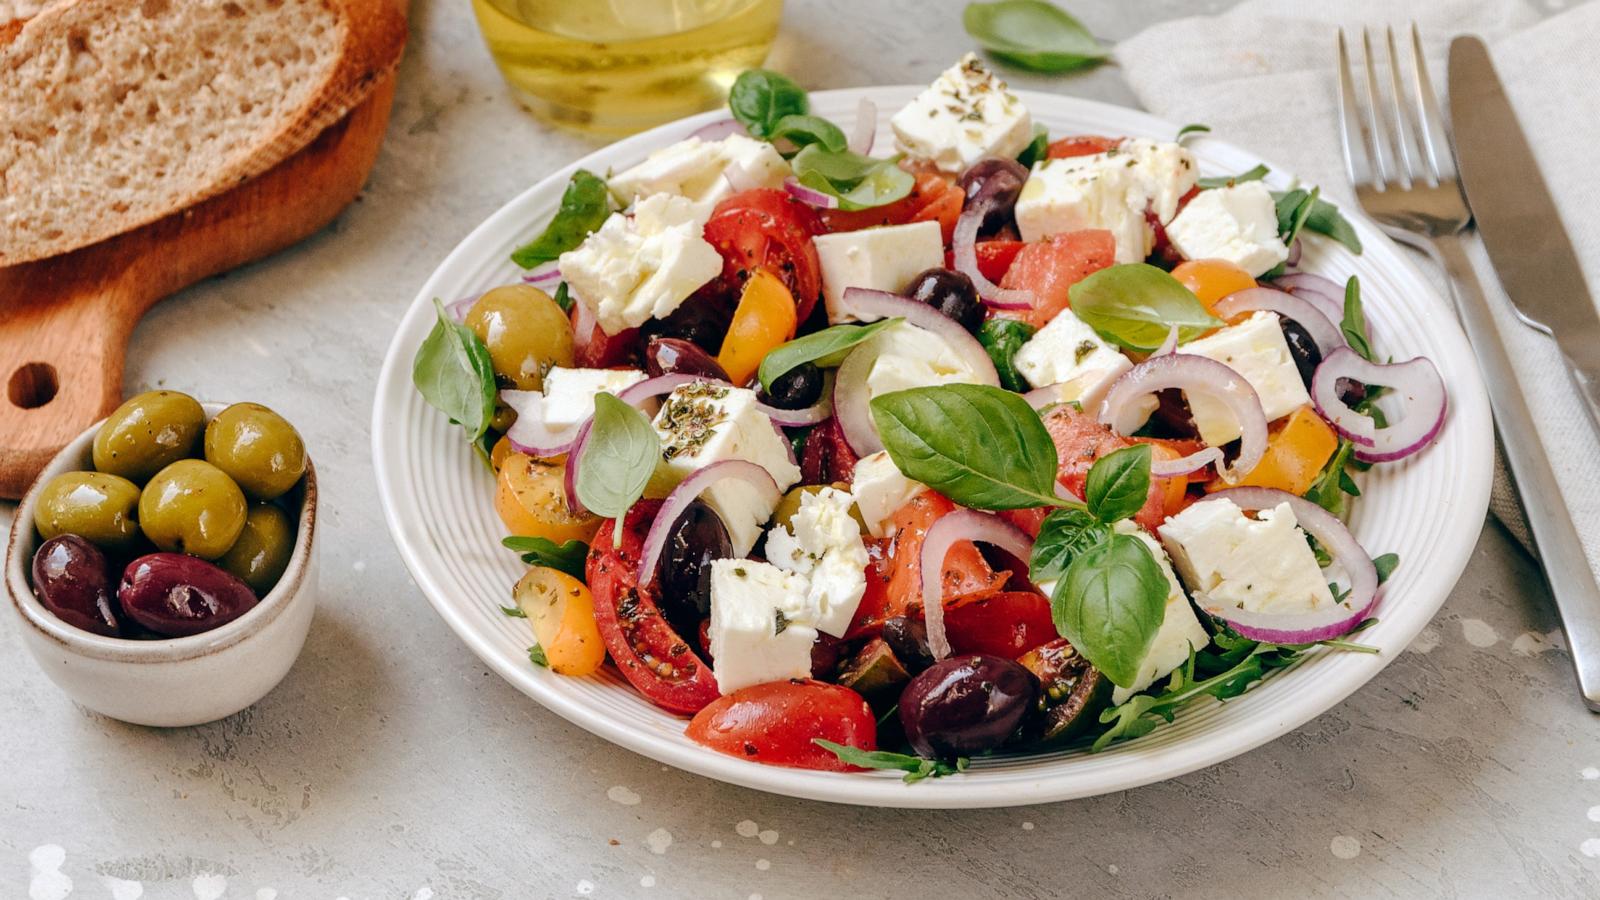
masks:
[[[1211,607],[1200,602],[1206,613],[1226,621],[1229,628],[1251,641],[1269,641],[1274,644],[1310,644],[1349,634],[1362,623],[1378,604],[1378,569],[1373,557],[1355,540],[1355,535],[1344,527],[1344,522],[1333,512],[1285,490],[1272,487],[1234,487],[1208,495],[1197,503],[1216,500],[1232,500],[1240,509],[1272,509],[1280,503],[1288,503],[1294,519],[1307,535],[1317,538],[1333,562],[1344,569],[1350,578],[1350,593],[1344,602],[1333,604],[1325,610],[1307,613],[1262,613],[1246,612],[1235,607]],[[930,528],[928,533],[933,533]],[[1197,601],[1200,597],[1195,597]]]

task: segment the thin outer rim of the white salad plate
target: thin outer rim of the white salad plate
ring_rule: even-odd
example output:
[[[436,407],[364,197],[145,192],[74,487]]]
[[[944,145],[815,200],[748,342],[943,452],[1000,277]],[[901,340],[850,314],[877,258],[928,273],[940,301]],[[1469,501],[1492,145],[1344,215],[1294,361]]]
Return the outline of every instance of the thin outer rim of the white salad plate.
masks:
[[[922,85],[840,88],[814,91],[811,93],[811,101],[824,106],[854,104],[864,98],[874,99],[880,104],[904,102],[904,99],[909,99],[909,96],[920,90],[923,90]],[[1174,123],[1144,110],[1066,94],[1050,94],[1029,90],[1018,90],[1014,93],[1026,104],[1029,104],[1029,109],[1035,110],[1035,114],[1042,114],[1043,119],[1082,117],[1106,122],[1107,131],[1120,133],[1160,133],[1162,130],[1166,130],[1166,133],[1174,135],[1178,131]],[[478,660],[504,677],[512,687],[531,697],[546,709],[550,709],[595,737],[650,759],[656,759],[658,762],[731,785],[802,799],[851,806],[920,809],[1013,807],[1096,796],[1165,781],[1214,765],[1226,759],[1242,756],[1267,741],[1277,740],[1328,709],[1333,709],[1366,685],[1379,671],[1382,671],[1384,666],[1398,657],[1405,644],[1414,637],[1416,631],[1421,631],[1421,628],[1424,628],[1427,621],[1438,613],[1438,609],[1443,607],[1445,601],[1459,581],[1467,560],[1470,559],[1472,548],[1477,544],[1477,535],[1483,527],[1483,517],[1488,511],[1488,496],[1493,477],[1493,452],[1490,450],[1493,447],[1493,424],[1488,415],[1486,391],[1475,362],[1467,367],[1469,381],[1451,386],[1453,421],[1446,426],[1458,429],[1470,428],[1478,431],[1478,440],[1474,442],[1469,439],[1466,444],[1469,448],[1467,461],[1475,463],[1475,466],[1470,468],[1477,469],[1477,477],[1470,477],[1472,472],[1467,472],[1469,477],[1458,482],[1464,487],[1464,490],[1456,495],[1456,500],[1464,504],[1459,511],[1472,512],[1472,516],[1451,517],[1451,520],[1466,522],[1454,528],[1461,533],[1459,540],[1440,541],[1435,554],[1429,557],[1432,575],[1427,577],[1426,583],[1419,583],[1411,589],[1413,594],[1424,591],[1437,594],[1437,601],[1430,601],[1432,609],[1429,610],[1427,618],[1421,620],[1421,625],[1418,625],[1411,637],[1408,637],[1405,644],[1395,647],[1394,652],[1360,655],[1360,660],[1355,660],[1350,666],[1352,673],[1349,677],[1322,679],[1320,682],[1314,681],[1307,685],[1307,690],[1296,695],[1296,701],[1293,705],[1280,705],[1274,708],[1274,714],[1258,714],[1245,722],[1240,722],[1242,727],[1229,732],[1229,740],[1226,741],[1186,738],[1176,741],[1174,745],[1152,748],[1149,753],[1139,756],[1130,754],[1126,759],[1120,759],[1114,769],[1102,772],[1093,785],[1083,783],[1083,778],[1070,777],[1070,770],[1042,770],[1037,778],[994,785],[982,781],[982,769],[974,769],[962,778],[902,785],[896,775],[883,772],[867,775],[829,773],[762,765],[704,748],[658,741],[648,732],[637,730],[626,722],[618,724],[598,716],[594,709],[578,703],[576,698],[565,697],[560,690],[542,684],[542,679],[536,677],[539,673],[534,673],[526,665],[520,668],[514,666],[501,653],[494,652],[490,636],[472,628],[470,623],[466,621],[462,610],[448,602],[448,585],[435,583],[434,573],[419,562],[418,546],[414,543],[418,536],[411,533],[413,527],[402,519],[397,500],[389,490],[390,484],[397,482],[392,482],[392,461],[386,452],[384,436],[395,428],[395,423],[390,421],[394,413],[390,404],[386,404],[386,399],[405,397],[405,392],[410,391],[410,354],[403,352],[410,346],[406,344],[408,331],[416,330],[416,319],[422,315],[426,307],[430,307],[430,298],[437,293],[434,282],[438,280],[443,272],[462,264],[462,261],[474,253],[474,247],[478,245],[485,235],[499,234],[507,226],[526,227],[525,221],[517,219],[518,207],[533,202],[536,195],[549,191],[552,184],[563,183],[578,168],[595,165],[592,162],[595,157],[627,159],[627,154],[643,157],[648,149],[666,146],[669,139],[682,138],[694,128],[725,117],[725,110],[707,110],[606,144],[584,154],[581,159],[565,167],[552,170],[549,175],[518,192],[478,223],[478,226],[475,226],[459,243],[456,243],[434,267],[427,280],[400,315],[389,348],[384,351],[384,362],[373,397],[371,452],[373,476],[378,482],[379,503],[384,511],[384,522],[389,528],[389,535],[395,543],[395,549],[398,551],[402,562],[416,581],[418,589],[421,589],[424,597],[427,597],[429,604],[440,615],[440,618],[445,620],[451,631],[456,633],[456,636],[478,657]],[[882,114],[878,122],[882,131]],[[1245,157],[1267,165],[1272,170],[1269,181],[1282,183],[1291,171],[1227,141],[1210,135],[1206,135],[1205,139],[1208,141],[1208,147],[1221,154]],[[1456,323],[1454,314],[1450,311],[1450,306],[1438,295],[1438,291],[1434,290],[1432,282],[1416,266],[1416,261],[1406,256],[1398,245],[1384,235],[1376,224],[1358,210],[1342,208],[1342,211],[1357,227],[1363,243],[1370,245],[1376,242],[1387,245],[1387,248],[1392,250],[1394,264],[1403,272],[1406,280],[1416,283],[1426,293],[1421,306],[1432,307],[1432,312],[1445,314],[1443,322],[1446,327],[1440,328],[1440,333],[1437,333],[1434,340],[1443,344],[1454,344],[1446,348],[1453,351],[1453,356],[1464,352],[1466,359],[1472,360],[1469,344]],[[1477,447],[1477,452],[1472,452],[1472,447]],[[1475,525],[1470,525],[1469,528],[1467,524],[1470,522],[1475,522]],[[1470,533],[1467,533],[1469,530]],[[1448,572],[1448,577],[1440,578],[1438,572]],[[1283,673],[1282,677],[1290,677],[1294,673]],[[555,676],[546,674],[546,677]],[[662,714],[666,716],[666,713]],[[1126,746],[1138,748],[1136,743]]]

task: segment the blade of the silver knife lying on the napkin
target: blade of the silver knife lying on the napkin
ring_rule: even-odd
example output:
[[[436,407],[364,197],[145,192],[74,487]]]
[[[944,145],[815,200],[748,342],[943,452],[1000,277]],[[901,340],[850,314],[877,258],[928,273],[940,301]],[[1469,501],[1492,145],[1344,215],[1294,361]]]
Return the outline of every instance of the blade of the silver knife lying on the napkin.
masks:
[[[1472,35],[1450,42],[1450,117],[1467,205],[1506,295],[1555,338],[1600,426],[1600,311],[1488,46]]]

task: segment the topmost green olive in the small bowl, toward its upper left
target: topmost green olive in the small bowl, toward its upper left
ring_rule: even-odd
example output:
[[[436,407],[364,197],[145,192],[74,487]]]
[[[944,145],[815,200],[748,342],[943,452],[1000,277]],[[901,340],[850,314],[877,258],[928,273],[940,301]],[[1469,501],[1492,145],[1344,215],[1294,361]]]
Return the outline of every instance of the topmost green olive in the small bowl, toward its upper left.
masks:
[[[146,391],[117,407],[94,436],[94,468],[144,484],[150,476],[194,456],[205,429],[205,410],[189,394]]]

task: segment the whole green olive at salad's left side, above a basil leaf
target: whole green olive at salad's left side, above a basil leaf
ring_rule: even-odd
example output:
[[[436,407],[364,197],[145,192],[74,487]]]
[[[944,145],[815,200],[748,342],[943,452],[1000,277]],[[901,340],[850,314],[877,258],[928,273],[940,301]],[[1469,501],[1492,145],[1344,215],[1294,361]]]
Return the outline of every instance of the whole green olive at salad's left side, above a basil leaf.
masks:
[[[498,287],[467,311],[467,328],[490,349],[502,388],[539,391],[552,365],[573,365],[573,325],[550,295],[530,285]]]

